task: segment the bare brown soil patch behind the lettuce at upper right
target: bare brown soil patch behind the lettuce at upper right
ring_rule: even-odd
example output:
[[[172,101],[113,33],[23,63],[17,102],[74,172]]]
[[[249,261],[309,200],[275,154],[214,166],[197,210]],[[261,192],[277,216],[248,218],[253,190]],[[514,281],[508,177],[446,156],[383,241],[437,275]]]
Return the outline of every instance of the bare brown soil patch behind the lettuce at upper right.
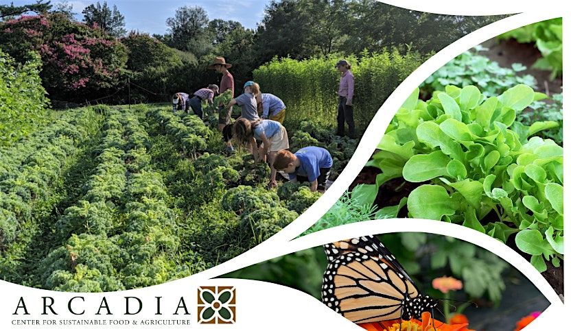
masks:
[[[500,66],[511,67],[513,63],[520,63],[527,66],[527,69],[521,73],[532,75],[537,79],[537,92],[543,92],[547,95],[561,93],[561,86],[563,86],[563,79],[561,77],[550,80],[550,71],[531,68],[535,61],[541,58],[541,53],[537,50],[535,44],[520,44],[513,39],[496,40],[496,38],[493,38],[484,42],[482,46],[489,50],[480,51],[480,54],[487,56],[490,60],[498,62]]]

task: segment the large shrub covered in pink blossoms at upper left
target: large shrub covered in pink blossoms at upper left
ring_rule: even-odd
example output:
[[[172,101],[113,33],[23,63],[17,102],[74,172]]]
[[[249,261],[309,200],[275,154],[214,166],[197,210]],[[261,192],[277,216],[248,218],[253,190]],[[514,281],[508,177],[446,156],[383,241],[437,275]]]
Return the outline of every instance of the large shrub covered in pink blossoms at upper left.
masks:
[[[69,21],[61,14],[21,16],[0,23],[0,45],[19,62],[28,60],[30,49],[38,51],[43,84],[54,98],[92,97],[123,81],[126,47],[102,29]]]

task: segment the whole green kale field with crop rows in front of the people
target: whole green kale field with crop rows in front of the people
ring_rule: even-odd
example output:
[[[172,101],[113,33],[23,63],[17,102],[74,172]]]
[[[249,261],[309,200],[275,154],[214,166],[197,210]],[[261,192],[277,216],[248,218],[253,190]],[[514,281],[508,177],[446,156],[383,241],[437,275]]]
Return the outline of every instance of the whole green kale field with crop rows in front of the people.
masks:
[[[321,195],[293,183],[266,189],[267,164],[245,150],[222,155],[218,131],[167,106],[53,116],[0,150],[0,276],[9,282],[78,292],[161,284],[245,252]],[[336,177],[356,140],[299,127],[292,150],[318,138]]]

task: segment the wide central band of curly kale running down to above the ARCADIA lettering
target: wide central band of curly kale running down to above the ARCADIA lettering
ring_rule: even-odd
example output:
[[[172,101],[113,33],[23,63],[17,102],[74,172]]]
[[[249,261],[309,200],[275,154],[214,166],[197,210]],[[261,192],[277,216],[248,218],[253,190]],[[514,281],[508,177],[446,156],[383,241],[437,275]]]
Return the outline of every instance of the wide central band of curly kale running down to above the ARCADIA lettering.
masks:
[[[176,260],[174,212],[161,175],[150,167],[147,132],[135,115],[115,110],[104,128],[84,197],[56,223],[65,244],[40,263],[44,288],[117,291],[190,273]]]

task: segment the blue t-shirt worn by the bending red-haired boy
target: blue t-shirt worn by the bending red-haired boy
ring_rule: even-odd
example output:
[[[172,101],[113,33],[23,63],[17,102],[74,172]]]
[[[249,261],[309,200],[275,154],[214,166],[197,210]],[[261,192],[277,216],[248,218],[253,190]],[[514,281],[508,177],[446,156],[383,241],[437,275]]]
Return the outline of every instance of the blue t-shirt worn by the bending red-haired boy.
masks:
[[[333,158],[325,148],[321,147],[303,147],[296,151],[294,155],[301,162],[294,173],[290,173],[290,180],[295,179],[297,176],[307,177],[310,182],[321,175],[319,169],[331,168],[333,166]]]

